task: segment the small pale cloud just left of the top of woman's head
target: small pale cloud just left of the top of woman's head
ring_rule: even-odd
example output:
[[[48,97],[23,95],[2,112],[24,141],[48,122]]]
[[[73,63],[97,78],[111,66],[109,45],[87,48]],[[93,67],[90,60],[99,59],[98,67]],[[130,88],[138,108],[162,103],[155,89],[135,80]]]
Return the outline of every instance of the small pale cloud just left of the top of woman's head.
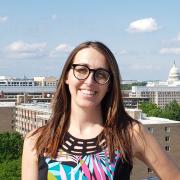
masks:
[[[62,53],[69,53],[74,49],[74,47],[68,44],[59,44],[51,53],[50,57],[58,57]]]

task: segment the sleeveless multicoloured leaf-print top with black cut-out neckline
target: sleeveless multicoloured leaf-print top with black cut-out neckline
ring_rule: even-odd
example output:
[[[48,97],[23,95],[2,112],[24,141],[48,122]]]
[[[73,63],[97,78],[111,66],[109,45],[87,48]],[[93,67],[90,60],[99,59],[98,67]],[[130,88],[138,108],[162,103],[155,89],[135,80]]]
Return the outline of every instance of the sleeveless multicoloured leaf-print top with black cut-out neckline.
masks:
[[[39,157],[39,180],[129,180],[132,166],[115,151],[110,161],[105,139],[78,139],[66,133],[57,157]]]

